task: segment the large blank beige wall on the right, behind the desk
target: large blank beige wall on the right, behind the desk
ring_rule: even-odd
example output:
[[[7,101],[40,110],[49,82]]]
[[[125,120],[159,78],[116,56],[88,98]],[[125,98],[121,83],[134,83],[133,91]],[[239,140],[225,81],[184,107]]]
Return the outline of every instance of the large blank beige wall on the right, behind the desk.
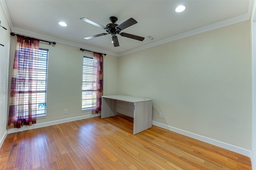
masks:
[[[251,62],[244,21],[119,57],[118,93],[152,98],[153,121],[250,150]]]

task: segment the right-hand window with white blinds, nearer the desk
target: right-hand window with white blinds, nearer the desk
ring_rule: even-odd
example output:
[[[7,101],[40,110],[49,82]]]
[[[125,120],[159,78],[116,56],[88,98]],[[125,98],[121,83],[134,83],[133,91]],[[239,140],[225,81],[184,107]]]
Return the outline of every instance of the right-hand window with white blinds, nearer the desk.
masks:
[[[97,84],[97,60],[85,57],[83,60],[82,80],[82,110],[91,109],[96,106],[96,93],[93,90]]]

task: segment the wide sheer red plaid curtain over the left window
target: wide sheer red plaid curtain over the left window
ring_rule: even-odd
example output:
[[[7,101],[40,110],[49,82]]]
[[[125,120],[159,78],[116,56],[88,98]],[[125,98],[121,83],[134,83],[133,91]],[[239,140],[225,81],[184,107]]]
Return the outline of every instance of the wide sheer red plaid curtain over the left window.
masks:
[[[18,35],[12,84],[8,129],[36,123],[36,92],[39,40]]]

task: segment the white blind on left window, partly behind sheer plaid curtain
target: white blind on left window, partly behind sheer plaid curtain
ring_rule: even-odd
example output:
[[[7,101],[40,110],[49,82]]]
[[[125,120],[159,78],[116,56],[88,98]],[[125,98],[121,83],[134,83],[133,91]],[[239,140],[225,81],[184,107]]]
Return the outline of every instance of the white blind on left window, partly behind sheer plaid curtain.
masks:
[[[46,115],[46,82],[48,66],[48,49],[39,49],[32,52],[35,60],[27,63],[27,54],[20,51],[18,95],[23,98],[24,104],[20,105],[23,112],[28,115],[29,109],[37,116]],[[38,56],[38,59],[36,59]],[[32,72],[28,67],[32,66]],[[22,78],[23,77],[23,78]],[[25,78],[25,79],[24,79]],[[30,99],[31,98],[31,99]]]

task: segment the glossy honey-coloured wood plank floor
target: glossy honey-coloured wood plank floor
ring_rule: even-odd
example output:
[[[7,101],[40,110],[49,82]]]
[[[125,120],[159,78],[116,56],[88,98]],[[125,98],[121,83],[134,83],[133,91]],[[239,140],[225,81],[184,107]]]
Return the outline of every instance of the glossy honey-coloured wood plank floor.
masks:
[[[123,115],[8,134],[0,170],[251,170],[250,158]]]

